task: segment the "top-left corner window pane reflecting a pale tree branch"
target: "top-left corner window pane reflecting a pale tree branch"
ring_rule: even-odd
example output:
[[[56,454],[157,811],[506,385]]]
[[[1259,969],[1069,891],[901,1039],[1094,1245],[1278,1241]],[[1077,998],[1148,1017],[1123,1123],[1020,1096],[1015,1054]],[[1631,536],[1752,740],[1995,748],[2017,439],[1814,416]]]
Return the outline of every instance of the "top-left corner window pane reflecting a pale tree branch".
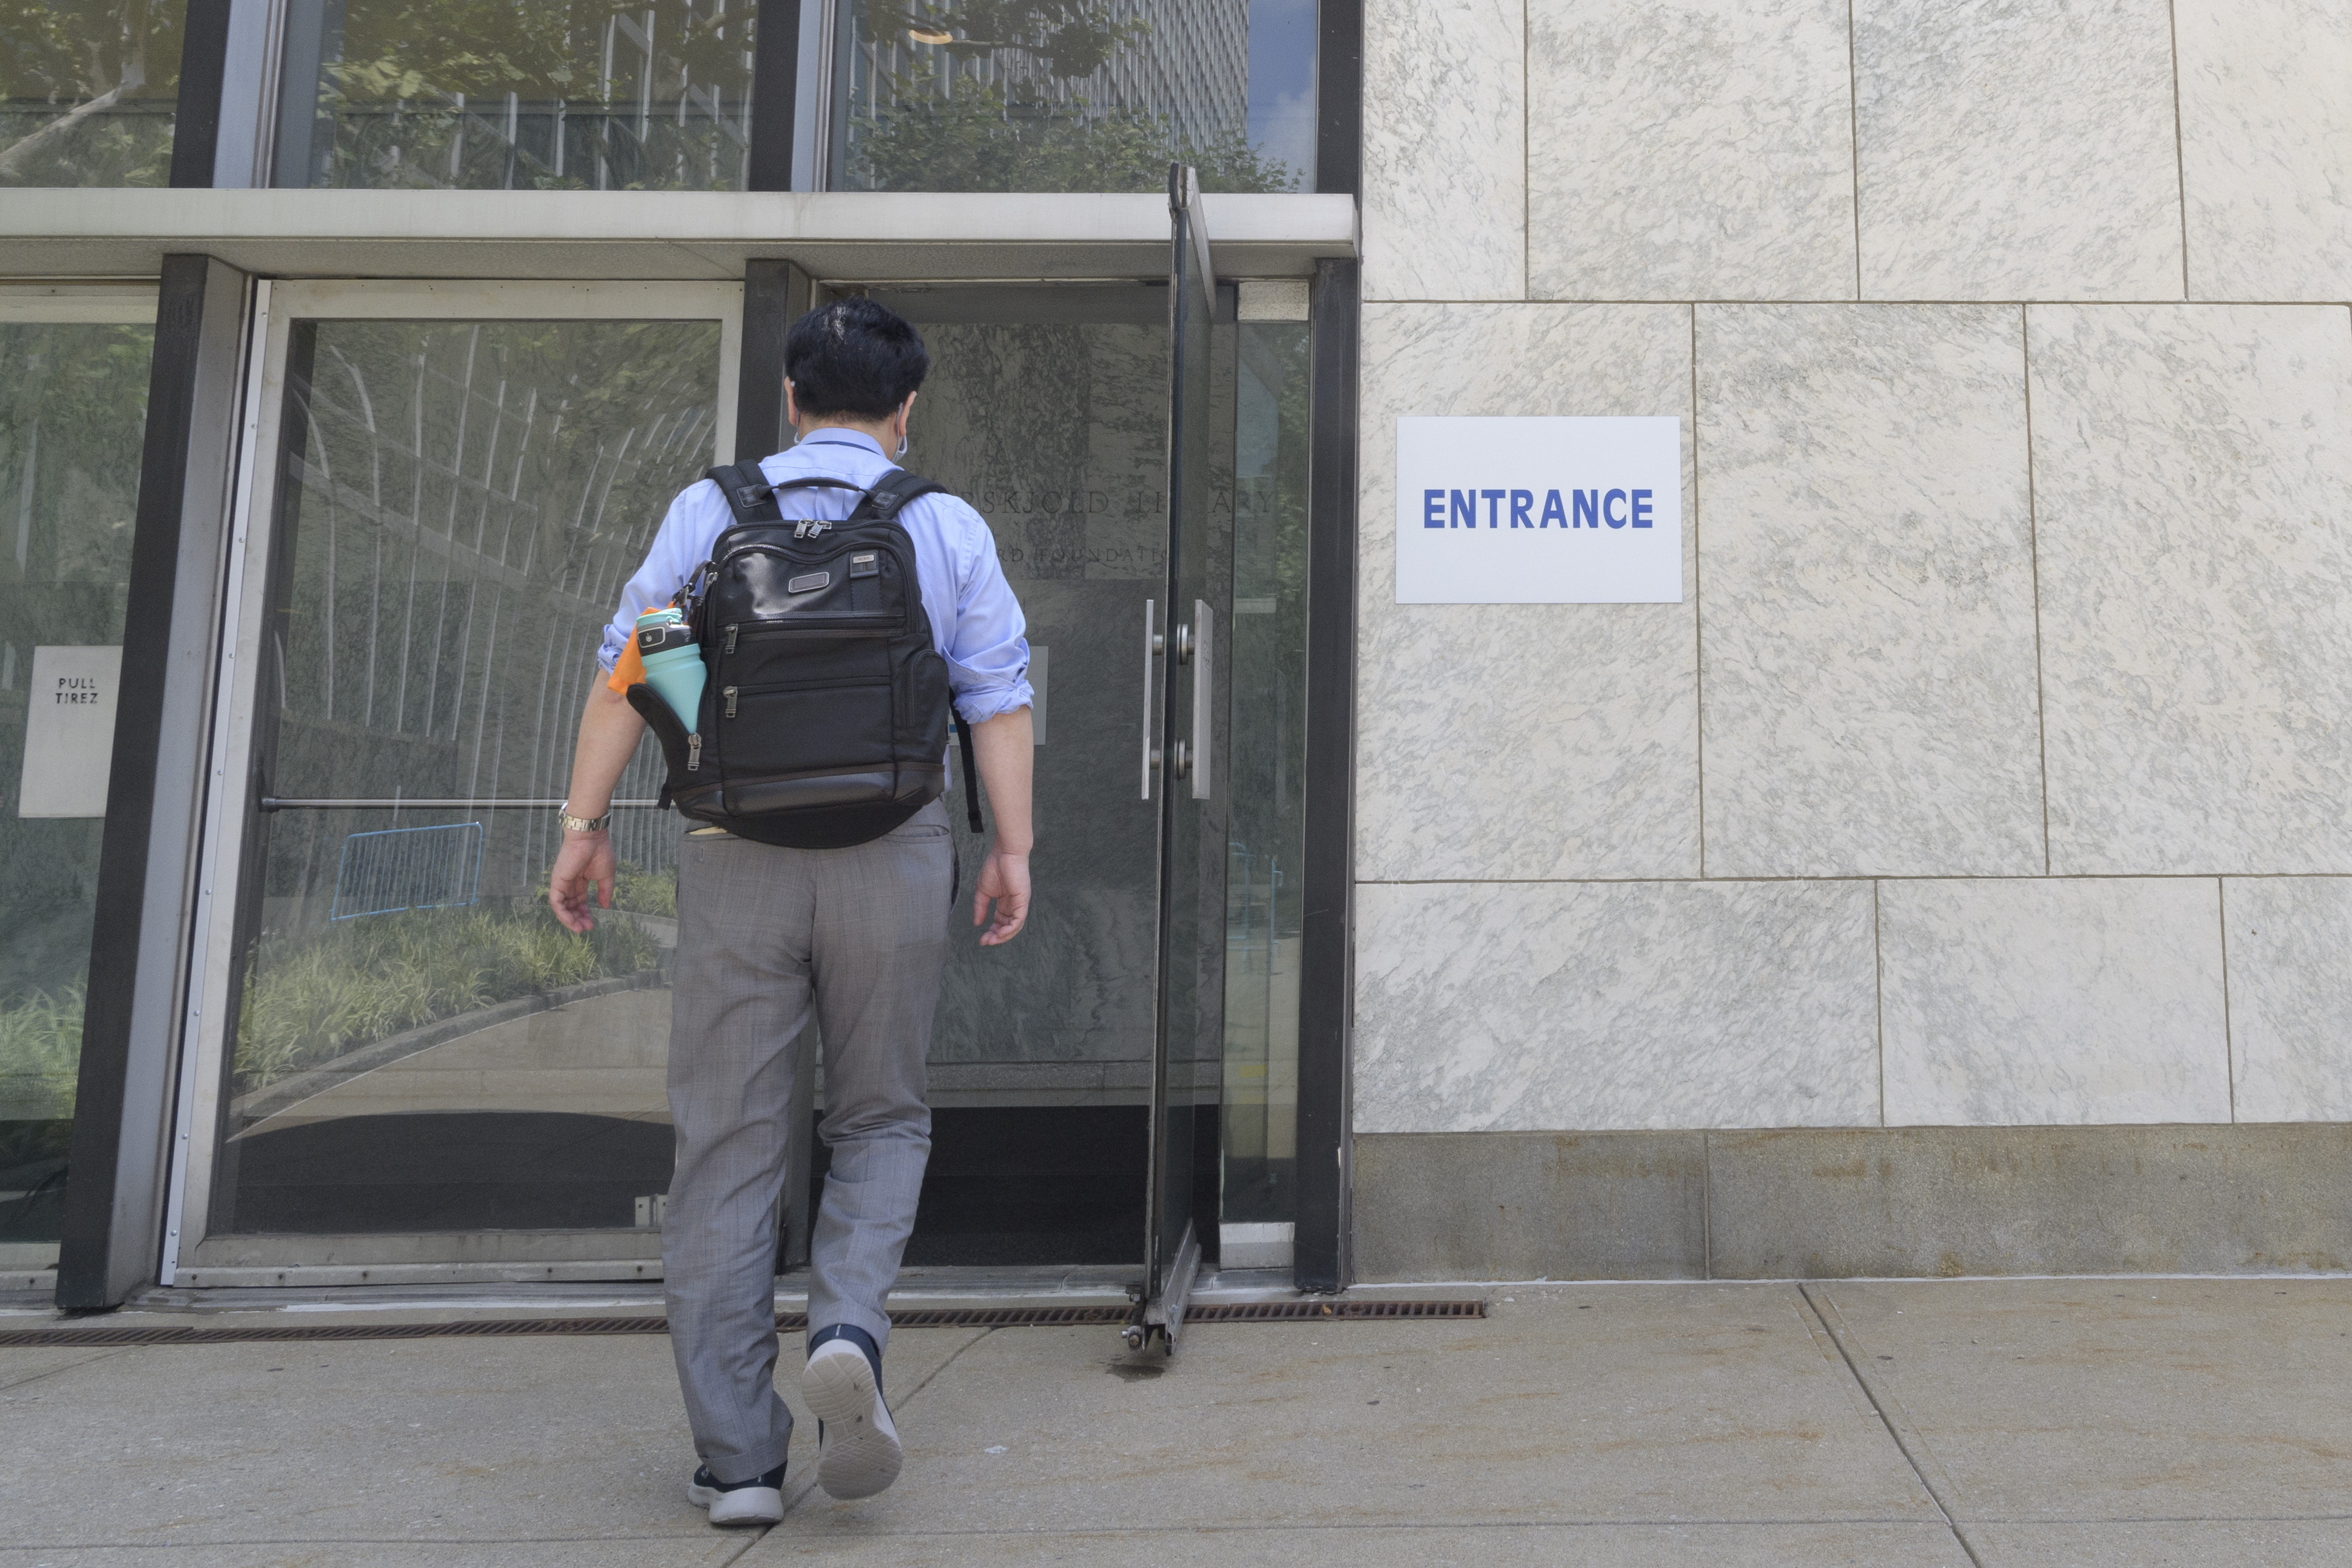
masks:
[[[181,0],[0,0],[0,186],[162,186]]]

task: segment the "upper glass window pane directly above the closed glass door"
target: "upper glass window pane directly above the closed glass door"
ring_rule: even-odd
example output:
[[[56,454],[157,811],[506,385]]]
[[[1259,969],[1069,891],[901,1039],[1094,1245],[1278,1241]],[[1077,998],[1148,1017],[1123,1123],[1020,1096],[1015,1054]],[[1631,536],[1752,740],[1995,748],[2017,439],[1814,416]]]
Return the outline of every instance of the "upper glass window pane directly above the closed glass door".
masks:
[[[741,190],[753,12],[755,0],[292,0],[275,183]]]

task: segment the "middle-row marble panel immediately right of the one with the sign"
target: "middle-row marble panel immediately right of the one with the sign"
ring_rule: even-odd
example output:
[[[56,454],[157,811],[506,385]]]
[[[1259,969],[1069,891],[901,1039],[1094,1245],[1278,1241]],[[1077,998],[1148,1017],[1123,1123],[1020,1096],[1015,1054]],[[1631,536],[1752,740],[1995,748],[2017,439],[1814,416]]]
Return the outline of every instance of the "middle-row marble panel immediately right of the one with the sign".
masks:
[[[1710,877],[2039,875],[2018,306],[1698,310]]]

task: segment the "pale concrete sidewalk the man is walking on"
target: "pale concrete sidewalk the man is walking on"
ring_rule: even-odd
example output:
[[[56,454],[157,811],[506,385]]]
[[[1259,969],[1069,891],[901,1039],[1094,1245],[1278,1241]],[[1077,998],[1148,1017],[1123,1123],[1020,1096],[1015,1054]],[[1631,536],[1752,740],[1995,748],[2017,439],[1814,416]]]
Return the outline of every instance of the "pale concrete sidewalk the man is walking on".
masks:
[[[809,1422],[764,1535],[687,1505],[659,1335],[0,1349],[0,1568],[2352,1561],[2352,1279],[1465,1293],[901,1331],[903,1479],[811,1493]]]

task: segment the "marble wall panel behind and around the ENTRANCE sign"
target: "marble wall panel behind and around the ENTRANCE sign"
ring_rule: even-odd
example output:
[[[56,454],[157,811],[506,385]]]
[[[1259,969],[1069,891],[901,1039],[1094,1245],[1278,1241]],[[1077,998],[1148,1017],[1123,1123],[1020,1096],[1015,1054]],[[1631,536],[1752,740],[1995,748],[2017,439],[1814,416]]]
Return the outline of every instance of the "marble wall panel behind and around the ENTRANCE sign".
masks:
[[[1691,531],[1684,604],[1397,604],[1395,576],[1399,416],[1686,421],[1689,308],[1367,306],[1362,367],[1357,877],[1696,877]]]

